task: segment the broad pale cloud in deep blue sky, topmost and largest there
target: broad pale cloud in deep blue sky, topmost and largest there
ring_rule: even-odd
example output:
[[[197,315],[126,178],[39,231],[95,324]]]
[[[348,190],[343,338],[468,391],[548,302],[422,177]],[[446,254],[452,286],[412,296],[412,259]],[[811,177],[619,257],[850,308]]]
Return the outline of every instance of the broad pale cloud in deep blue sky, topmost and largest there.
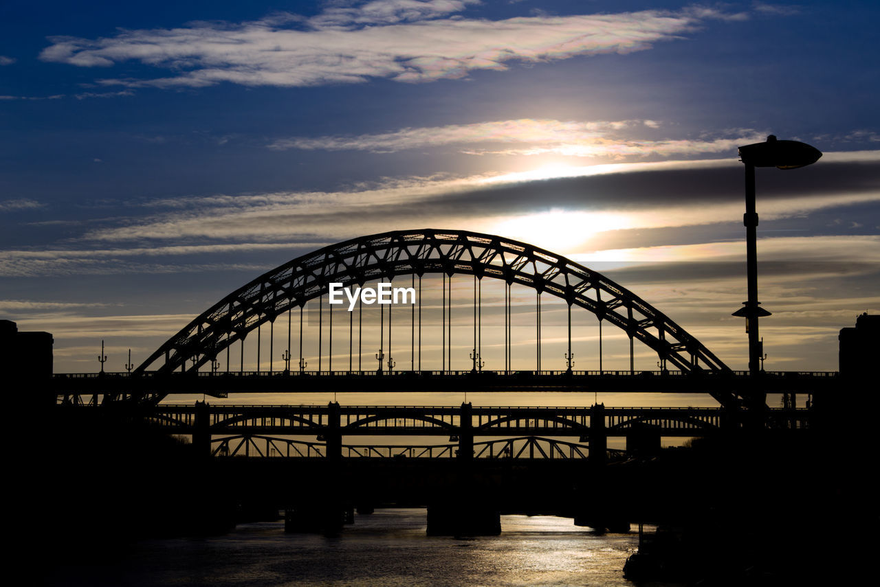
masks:
[[[371,77],[429,82],[508,69],[511,62],[633,53],[680,40],[709,19],[744,18],[701,7],[497,21],[448,16],[466,4],[471,3],[382,0],[330,8],[313,18],[277,14],[241,24],[123,30],[98,40],[56,36],[40,59],[82,67],[135,60],[174,72],[153,79],[99,80],[128,87],[311,86]]]

